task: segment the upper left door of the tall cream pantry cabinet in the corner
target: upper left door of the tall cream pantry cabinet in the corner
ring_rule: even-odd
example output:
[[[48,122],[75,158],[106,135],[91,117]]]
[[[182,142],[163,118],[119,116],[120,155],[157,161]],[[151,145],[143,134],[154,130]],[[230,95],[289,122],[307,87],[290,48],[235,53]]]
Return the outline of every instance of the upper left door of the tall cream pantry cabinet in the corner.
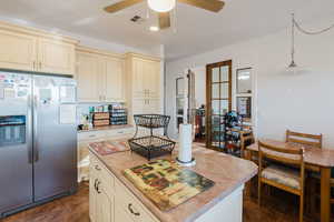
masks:
[[[145,94],[145,60],[132,59],[132,89],[135,98],[143,98]]]

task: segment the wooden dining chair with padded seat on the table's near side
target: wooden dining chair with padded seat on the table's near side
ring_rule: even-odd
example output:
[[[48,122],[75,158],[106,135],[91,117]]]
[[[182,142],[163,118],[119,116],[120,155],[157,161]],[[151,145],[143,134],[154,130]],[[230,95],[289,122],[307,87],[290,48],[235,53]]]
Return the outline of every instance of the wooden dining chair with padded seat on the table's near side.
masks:
[[[267,167],[264,160],[275,161]],[[291,167],[284,167],[294,165]],[[304,148],[284,149],[258,141],[258,205],[261,205],[262,184],[275,186],[299,195],[299,222],[304,215]]]

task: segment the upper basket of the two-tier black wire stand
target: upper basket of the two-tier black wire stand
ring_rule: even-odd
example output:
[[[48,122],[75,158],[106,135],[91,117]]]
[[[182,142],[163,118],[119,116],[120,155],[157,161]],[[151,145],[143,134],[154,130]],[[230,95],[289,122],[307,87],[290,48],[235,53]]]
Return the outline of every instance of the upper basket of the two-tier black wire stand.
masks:
[[[170,117],[163,114],[135,114],[136,125],[149,129],[167,128]]]

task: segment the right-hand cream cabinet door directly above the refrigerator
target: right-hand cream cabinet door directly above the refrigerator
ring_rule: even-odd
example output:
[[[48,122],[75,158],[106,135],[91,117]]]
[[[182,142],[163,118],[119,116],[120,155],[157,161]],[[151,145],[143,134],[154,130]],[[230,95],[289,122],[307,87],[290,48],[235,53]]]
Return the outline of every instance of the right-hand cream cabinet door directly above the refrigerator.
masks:
[[[40,38],[38,48],[38,71],[75,74],[76,51],[73,44]]]

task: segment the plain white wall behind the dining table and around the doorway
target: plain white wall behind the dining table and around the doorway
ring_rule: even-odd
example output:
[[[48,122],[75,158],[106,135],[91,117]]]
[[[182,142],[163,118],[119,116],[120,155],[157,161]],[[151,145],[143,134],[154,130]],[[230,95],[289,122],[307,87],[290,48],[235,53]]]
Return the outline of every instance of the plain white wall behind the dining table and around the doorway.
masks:
[[[303,24],[321,29],[334,18]],[[285,130],[323,133],[324,145],[334,149],[334,30],[321,36],[296,34],[296,62],[308,71],[291,74],[289,29],[215,51],[167,62],[167,113],[175,113],[175,75],[191,67],[233,60],[236,69],[253,68],[255,128],[258,138],[284,139]],[[235,92],[235,84],[233,87]],[[234,101],[235,102],[235,101]],[[234,105],[235,107],[235,105]],[[171,123],[175,124],[175,118]],[[174,127],[170,135],[176,137]]]

